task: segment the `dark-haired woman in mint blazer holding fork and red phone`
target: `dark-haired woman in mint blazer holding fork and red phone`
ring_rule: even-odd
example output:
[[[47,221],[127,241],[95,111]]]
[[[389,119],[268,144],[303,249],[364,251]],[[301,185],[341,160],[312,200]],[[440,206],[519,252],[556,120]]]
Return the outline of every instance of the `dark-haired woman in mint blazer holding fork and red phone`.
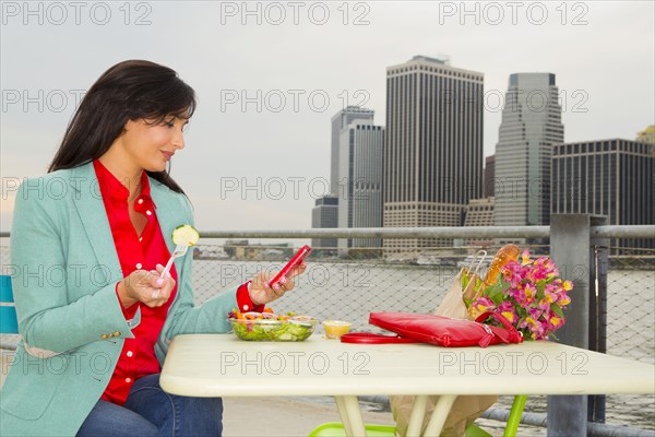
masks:
[[[294,284],[271,288],[260,273],[194,306],[191,251],[159,277],[172,231],[193,223],[167,165],[194,108],[169,68],[118,63],[84,96],[49,174],[22,184],[11,240],[22,341],[2,388],[2,436],[221,435],[221,399],[160,389],[168,344],[226,332],[233,308],[261,310]]]

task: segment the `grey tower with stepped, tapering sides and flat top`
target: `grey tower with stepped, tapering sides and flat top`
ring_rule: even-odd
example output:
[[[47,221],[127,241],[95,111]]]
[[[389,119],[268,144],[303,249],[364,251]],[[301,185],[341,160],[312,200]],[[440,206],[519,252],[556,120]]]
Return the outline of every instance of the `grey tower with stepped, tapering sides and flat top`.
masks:
[[[563,141],[555,74],[511,74],[496,146],[497,226],[550,223],[552,146]]]

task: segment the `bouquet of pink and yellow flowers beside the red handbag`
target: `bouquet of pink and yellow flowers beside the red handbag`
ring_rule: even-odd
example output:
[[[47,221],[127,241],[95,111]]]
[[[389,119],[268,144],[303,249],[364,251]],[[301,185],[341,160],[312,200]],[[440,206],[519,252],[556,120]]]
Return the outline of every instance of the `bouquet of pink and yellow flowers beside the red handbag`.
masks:
[[[571,281],[562,281],[555,262],[548,257],[531,259],[514,245],[496,255],[485,280],[477,280],[475,297],[465,300],[475,319],[485,311],[504,316],[526,340],[548,340],[565,322],[562,309],[571,303]],[[466,281],[467,276],[463,276]],[[466,284],[463,284],[466,285]],[[555,336],[555,335],[552,335]]]

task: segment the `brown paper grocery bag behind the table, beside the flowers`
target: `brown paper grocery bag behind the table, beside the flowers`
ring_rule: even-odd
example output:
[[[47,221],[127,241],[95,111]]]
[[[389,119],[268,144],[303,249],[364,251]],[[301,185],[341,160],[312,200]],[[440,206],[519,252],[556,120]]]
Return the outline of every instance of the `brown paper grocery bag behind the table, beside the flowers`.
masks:
[[[476,258],[481,255],[481,259],[477,263],[475,271],[472,271],[475,264]],[[480,250],[476,253],[472,265],[468,269],[460,270],[460,273],[455,276],[451,284],[448,293],[439,304],[439,307],[434,311],[436,315],[452,317],[456,319],[469,319],[468,309],[464,304],[464,297],[473,299],[475,297],[475,283],[478,276],[479,268],[485,260],[487,252]],[[466,274],[469,277],[468,284],[465,290],[462,290],[462,276]],[[434,404],[439,399],[438,395],[428,398],[426,406],[426,416],[421,426],[421,434],[428,426],[428,422],[432,412],[434,411]],[[475,422],[489,406],[491,406],[498,400],[497,395],[462,395],[455,399],[451,412],[449,413],[443,429],[441,430],[442,437],[461,437],[464,436],[468,425]],[[409,424],[409,416],[412,415],[412,406],[414,404],[414,395],[391,395],[389,397],[391,404],[391,411],[393,418],[396,422],[396,434],[405,436],[407,433],[407,425]]]

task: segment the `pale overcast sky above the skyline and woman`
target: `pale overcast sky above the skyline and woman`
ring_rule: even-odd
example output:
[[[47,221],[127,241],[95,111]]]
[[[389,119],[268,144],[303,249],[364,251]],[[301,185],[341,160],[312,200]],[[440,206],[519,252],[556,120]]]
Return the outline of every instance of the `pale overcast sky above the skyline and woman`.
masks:
[[[171,176],[200,231],[307,229],[329,191],[330,119],[385,120],[385,71],[416,55],[485,74],[485,156],[511,73],[557,75],[564,140],[655,123],[652,1],[1,2],[0,231],[112,64],[176,70],[199,107]]]

